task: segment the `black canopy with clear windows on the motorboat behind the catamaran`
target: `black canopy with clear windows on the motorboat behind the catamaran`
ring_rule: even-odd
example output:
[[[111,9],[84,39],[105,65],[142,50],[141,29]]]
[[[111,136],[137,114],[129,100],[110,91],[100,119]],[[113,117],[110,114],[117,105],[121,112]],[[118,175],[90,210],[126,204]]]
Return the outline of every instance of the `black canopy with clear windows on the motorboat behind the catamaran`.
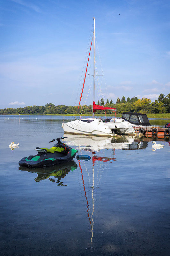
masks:
[[[146,114],[136,112],[123,112],[121,116],[124,120],[127,120],[131,124],[151,126]]]

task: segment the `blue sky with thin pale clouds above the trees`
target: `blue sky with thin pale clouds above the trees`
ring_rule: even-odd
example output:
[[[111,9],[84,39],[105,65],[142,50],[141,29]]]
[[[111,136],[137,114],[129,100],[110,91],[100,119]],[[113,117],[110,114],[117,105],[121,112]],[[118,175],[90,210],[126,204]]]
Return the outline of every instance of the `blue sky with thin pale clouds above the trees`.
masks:
[[[75,105],[93,17],[106,100],[170,92],[169,0],[1,0],[0,13],[0,108]]]

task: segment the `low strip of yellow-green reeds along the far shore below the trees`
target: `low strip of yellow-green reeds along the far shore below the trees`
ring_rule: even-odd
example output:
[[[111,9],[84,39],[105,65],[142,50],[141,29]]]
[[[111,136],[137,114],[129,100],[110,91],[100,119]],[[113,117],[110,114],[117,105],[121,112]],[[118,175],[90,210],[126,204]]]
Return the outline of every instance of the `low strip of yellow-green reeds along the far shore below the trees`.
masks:
[[[19,114],[0,114],[0,115],[4,115],[4,116],[18,116]],[[20,114],[20,116],[79,116],[78,114]],[[82,115],[83,117],[84,115]],[[85,117],[92,117],[91,115],[86,115]],[[106,114],[106,116],[112,116],[109,114]],[[122,114],[116,114],[116,117],[121,117]],[[148,118],[162,118],[162,119],[168,119],[170,118],[170,113],[165,113],[165,114],[152,114],[152,113],[148,113],[147,114]],[[101,114],[96,114],[96,117],[105,117],[105,115],[101,115]]]

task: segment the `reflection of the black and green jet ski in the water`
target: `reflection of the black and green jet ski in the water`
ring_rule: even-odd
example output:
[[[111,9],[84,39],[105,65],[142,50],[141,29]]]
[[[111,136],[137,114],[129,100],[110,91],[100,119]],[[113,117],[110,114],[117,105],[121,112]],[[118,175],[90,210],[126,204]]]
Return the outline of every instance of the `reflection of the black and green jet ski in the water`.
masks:
[[[67,186],[64,185],[61,178],[64,178],[66,174],[69,172],[73,172],[77,169],[77,164],[72,160],[68,163],[58,164],[55,166],[50,166],[48,168],[36,168],[30,169],[28,167],[20,166],[18,170],[27,171],[27,172],[35,172],[37,173],[37,177],[35,178],[36,182],[40,182],[41,180],[50,180],[54,183],[57,183],[57,186]],[[56,180],[55,180],[55,179]]]

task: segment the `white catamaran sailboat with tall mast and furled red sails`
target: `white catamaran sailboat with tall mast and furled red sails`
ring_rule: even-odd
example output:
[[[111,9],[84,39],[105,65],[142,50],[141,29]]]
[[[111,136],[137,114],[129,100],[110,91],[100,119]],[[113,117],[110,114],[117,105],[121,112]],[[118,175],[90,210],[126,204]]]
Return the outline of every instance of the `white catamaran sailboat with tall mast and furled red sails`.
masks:
[[[93,20],[94,20],[94,29],[93,29],[93,37],[92,37],[92,41],[93,41],[93,117],[63,123],[62,128],[64,130],[64,133],[67,133],[67,134],[83,134],[83,135],[106,136],[106,137],[112,137],[116,133],[134,135],[136,134],[136,132],[133,129],[132,125],[124,119],[113,118],[111,119],[111,122],[110,122],[110,119],[106,119],[105,122],[103,122],[102,119],[95,118],[94,116],[94,113],[97,110],[116,111],[116,109],[103,107],[95,104],[95,18],[93,18]],[[91,47],[92,47],[92,42],[90,46],[90,51],[91,51]],[[90,56],[90,52],[89,52],[89,56]],[[88,61],[89,61],[89,58],[88,58]],[[87,67],[88,67],[88,62],[87,62]],[[87,67],[86,67],[86,72],[87,72]],[[86,77],[86,72],[85,72],[85,77]],[[85,79],[84,79],[84,84],[85,84]],[[82,88],[82,93],[84,89],[84,84]],[[80,101],[82,99],[82,93],[80,96]],[[79,105],[80,105],[80,101],[79,101]]]

